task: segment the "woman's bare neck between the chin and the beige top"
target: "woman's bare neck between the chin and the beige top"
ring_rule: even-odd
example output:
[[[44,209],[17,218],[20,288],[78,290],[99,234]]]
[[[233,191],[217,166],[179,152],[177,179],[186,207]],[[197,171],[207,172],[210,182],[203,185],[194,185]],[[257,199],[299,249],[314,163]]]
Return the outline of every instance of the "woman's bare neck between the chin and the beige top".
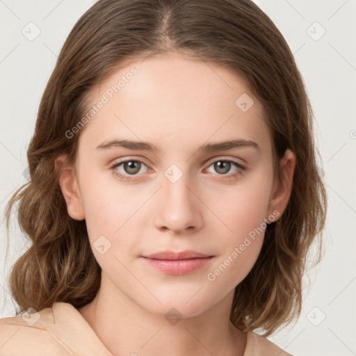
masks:
[[[78,309],[113,355],[243,356],[246,334],[229,321],[234,291],[190,318],[154,314],[115,291],[114,298],[102,283],[95,299]]]

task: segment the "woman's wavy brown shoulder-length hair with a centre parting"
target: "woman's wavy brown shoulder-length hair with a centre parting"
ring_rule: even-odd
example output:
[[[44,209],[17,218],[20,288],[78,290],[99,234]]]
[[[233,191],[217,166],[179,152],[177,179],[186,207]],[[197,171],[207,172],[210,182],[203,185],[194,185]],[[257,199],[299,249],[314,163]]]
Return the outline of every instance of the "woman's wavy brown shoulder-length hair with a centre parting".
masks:
[[[177,52],[214,63],[248,83],[266,113],[273,175],[286,149],[296,156],[291,197],[266,227],[252,270],[236,286],[230,321],[267,337],[300,316],[302,277],[309,252],[323,256],[327,196],[313,137],[314,114],[286,40],[250,0],[100,0],[65,40],[47,83],[27,151],[29,181],[6,206],[6,227],[18,203],[19,226],[31,246],[13,265],[8,282],[19,305],[42,310],[54,302],[79,308],[95,298],[101,268],[90,248],[86,220],[67,213],[55,159],[75,163],[79,137],[65,132],[88,111],[99,84],[125,63]]]

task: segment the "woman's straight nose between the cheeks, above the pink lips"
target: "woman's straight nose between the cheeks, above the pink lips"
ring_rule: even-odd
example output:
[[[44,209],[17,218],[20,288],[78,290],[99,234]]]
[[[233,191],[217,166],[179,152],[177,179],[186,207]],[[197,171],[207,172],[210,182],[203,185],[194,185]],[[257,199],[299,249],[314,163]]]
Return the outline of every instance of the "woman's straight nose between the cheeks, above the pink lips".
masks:
[[[197,185],[188,179],[188,174],[181,175],[177,181],[169,174],[163,175],[154,204],[157,207],[154,217],[157,229],[183,234],[188,229],[193,232],[202,227],[204,204]]]

